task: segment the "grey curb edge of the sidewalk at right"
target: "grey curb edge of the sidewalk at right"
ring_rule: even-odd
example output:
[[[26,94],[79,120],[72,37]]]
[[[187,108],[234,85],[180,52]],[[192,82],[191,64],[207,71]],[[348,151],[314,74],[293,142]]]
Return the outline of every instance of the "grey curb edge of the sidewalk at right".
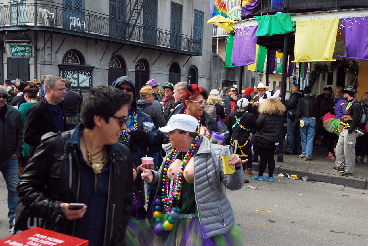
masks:
[[[252,164],[252,171],[258,171],[259,164],[254,163]],[[266,169],[266,173],[267,173]],[[287,177],[287,173],[297,174],[299,178],[303,176],[307,176],[308,180],[318,180],[321,182],[326,182],[330,184],[337,184],[337,185],[344,185],[348,187],[354,187],[359,189],[367,189],[367,179],[366,178],[355,178],[351,176],[341,176],[341,175],[334,175],[329,173],[319,173],[315,171],[308,171],[308,170],[301,170],[292,167],[285,167],[285,166],[276,166],[275,167],[275,174],[284,174]]]

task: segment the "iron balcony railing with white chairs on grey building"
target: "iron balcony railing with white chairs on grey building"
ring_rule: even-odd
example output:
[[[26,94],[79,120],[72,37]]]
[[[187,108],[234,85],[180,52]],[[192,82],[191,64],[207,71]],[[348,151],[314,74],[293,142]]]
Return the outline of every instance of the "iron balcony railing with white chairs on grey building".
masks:
[[[45,1],[43,1],[45,2]],[[132,25],[124,20],[112,19],[109,15],[83,9],[72,9],[61,4],[27,3],[25,1],[0,6],[0,29],[12,26],[43,26],[70,30],[81,36],[88,34],[105,36],[121,40],[121,43],[133,42],[137,45],[150,45],[170,48],[177,51],[202,53],[202,40],[166,30]],[[124,34],[124,29],[131,30],[132,35]],[[127,33],[127,32],[125,32]]]

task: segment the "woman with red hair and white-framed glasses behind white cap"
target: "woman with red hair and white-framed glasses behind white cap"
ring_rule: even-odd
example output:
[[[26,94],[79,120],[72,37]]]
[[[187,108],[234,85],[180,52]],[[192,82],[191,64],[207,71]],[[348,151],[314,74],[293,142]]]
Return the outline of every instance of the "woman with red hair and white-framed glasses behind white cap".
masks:
[[[181,94],[184,107],[177,112],[178,114],[195,117],[199,122],[197,133],[204,135],[212,134],[213,131],[219,131],[216,120],[204,111],[207,99],[208,91],[205,88],[199,87],[197,84],[189,84]]]

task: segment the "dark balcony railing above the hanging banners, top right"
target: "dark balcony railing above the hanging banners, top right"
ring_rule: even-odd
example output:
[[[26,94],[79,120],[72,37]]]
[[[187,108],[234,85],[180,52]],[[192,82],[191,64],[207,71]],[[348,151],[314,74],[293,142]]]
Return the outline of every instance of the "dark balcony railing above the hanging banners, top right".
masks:
[[[284,0],[283,13],[303,13],[328,10],[346,10],[353,8],[367,8],[367,0]],[[261,0],[252,14],[247,18],[263,14],[271,14],[280,10],[271,9],[270,0]]]

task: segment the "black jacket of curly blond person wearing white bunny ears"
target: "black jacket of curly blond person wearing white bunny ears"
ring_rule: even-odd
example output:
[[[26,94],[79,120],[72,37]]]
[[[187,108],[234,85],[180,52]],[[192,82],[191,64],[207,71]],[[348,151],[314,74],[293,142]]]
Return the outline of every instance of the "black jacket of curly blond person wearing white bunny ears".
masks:
[[[284,141],[284,116],[283,115],[268,115],[260,113],[257,119],[258,131],[254,134],[255,137],[262,137],[271,142]]]

